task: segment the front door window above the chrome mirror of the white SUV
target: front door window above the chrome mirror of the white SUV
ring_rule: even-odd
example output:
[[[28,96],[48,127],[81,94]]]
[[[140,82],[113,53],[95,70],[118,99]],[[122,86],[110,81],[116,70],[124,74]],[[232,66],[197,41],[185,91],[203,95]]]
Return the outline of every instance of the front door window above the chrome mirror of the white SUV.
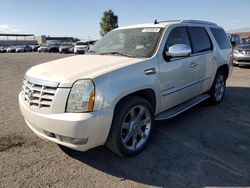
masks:
[[[165,50],[168,50],[174,44],[186,44],[191,48],[186,27],[176,27],[170,32]]]

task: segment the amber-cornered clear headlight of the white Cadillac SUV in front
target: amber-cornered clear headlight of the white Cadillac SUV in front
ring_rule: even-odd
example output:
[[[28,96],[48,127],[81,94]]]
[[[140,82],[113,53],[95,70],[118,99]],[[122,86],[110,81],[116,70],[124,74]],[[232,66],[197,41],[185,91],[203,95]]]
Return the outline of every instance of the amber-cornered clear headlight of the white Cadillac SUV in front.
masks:
[[[78,80],[71,88],[66,112],[91,112],[94,99],[95,86],[92,80]]]

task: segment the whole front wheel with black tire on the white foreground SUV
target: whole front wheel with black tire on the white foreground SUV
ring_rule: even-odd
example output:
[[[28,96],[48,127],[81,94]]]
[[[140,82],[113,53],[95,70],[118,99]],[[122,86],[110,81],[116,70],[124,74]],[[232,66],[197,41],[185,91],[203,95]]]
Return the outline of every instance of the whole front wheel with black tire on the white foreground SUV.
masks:
[[[142,97],[128,97],[116,107],[105,145],[120,156],[136,155],[147,146],[153,124],[151,104]]]

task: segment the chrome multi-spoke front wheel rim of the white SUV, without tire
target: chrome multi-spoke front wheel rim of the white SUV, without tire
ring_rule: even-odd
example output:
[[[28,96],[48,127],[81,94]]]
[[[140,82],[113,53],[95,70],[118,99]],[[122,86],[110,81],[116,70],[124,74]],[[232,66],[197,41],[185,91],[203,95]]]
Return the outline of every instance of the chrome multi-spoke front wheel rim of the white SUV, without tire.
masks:
[[[122,122],[121,139],[123,145],[131,151],[140,149],[149,138],[151,125],[149,110],[143,105],[134,106]]]

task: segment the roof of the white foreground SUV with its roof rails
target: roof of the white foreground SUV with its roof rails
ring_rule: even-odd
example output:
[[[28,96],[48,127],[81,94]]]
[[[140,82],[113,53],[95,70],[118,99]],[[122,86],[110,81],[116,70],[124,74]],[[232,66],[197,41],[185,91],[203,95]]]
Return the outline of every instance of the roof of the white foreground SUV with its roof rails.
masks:
[[[213,22],[207,22],[207,21],[202,21],[202,20],[167,20],[167,21],[157,21],[157,20],[155,20],[155,22],[152,22],[152,23],[119,27],[116,30],[131,29],[131,28],[151,28],[151,27],[166,28],[169,25],[177,24],[177,23],[190,23],[190,24],[202,24],[202,25],[217,26],[217,24],[215,24]]]

